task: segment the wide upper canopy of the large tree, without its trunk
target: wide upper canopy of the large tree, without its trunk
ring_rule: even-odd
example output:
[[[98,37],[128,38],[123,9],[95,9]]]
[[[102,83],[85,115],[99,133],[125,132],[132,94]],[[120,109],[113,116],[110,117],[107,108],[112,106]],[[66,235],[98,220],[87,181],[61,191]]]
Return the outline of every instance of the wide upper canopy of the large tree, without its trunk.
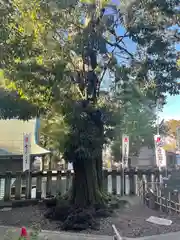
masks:
[[[80,75],[93,55],[91,67],[99,73],[98,86],[104,72],[113,71],[116,90],[123,88],[122,82],[133,81],[137,92],[153,98],[178,93],[178,32],[171,28],[179,21],[178,1],[123,1],[121,6],[102,1],[107,6],[98,10],[96,22],[91,16],[93,1],[75,2],[67,6],[64,1],[62,6],[35,0],[1,4],[0,67],[29,102],[40,110],[51,106],[65,95],[69,98],[72,83],[78,98],[86,98],[86,83]],[[110,8],[113,14],[108,13]],[[136,44],[135,53],[126,46],[127,38]],[[89,46],[94,52],[87,53]],[[98,65],[95,53],[101,56]]]

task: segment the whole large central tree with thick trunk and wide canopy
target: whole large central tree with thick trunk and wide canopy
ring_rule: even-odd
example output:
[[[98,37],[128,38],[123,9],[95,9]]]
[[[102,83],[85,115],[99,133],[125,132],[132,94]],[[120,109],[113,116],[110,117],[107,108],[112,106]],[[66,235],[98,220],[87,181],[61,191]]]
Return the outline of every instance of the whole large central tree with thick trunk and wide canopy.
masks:
[[[175,38],[167,34],[178,21],[178,1],[174,5],[124,1],[124,8],[109,6],[106,0],[101,6],[74,2],[63,1],[62,6],[54,1],[3,1],[0,67],[9,83],[36,107],[38,116],[46,118],[57,108],[61,112],[70,129],[64,157],[73,162],[75,171],[68,200],[85,208],[102,206],[107,200],[102,189],[102,147],[112,129],[111,109],[116,108],[111,104],[107,114],[108,101],[99,101],[105,74],[115,76],[116,92],[122,88],[121,80],[132,82],[137,93],[143,92],[140,100],[178,93]],[[106,14],[110,7],[113,15]],[[120,25],[125,31],[119,36]],[[135,54],[125,46],[126,38],[136,43]],[[125,59],[125,64],[117,58]]]

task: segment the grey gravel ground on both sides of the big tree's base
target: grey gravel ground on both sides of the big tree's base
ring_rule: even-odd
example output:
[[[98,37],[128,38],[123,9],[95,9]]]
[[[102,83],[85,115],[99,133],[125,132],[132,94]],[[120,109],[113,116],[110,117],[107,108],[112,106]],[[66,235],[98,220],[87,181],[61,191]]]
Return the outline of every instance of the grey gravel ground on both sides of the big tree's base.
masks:
[[[58,222],[49,221],[44,218],[44,207],[42,205],[14,208],[11,211],[0,212],[0,225],[11,226],[38,226],[44,230],[60,230]],[[171,226],[159,226],[146,222],[150,216],[168,218],[173,221]],[[101,220],[99,231],[82,231],[82,233],[112,235],[112,224],[115,224],[122,236],[141,237],[156,234],[180,231],[180,215],[167,215],[153,211],[142,205],[134,205],[125,209],[116,210],[106,219]]]

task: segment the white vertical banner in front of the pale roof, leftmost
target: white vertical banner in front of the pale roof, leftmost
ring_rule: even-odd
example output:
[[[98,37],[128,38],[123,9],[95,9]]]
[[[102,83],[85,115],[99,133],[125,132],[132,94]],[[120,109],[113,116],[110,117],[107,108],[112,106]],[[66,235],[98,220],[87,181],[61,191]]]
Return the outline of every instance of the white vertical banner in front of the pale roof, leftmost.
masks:
[[[24,134],[23,137],[23,172],[30,170],[31,158],[31,135]]]

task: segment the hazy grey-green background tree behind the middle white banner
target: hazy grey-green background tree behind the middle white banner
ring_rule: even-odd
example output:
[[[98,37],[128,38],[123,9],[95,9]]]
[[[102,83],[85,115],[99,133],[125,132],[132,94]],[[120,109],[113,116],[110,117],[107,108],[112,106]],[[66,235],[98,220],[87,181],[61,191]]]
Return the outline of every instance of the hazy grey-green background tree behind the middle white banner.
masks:
[[[121,109],[119,121],[115,127],[115,136],[112,144],[112,154],[115,161],[121,161],[122,135],[127,134],[130,138],[130,157],[137,156],[142,146],[152,147],[153,135],[155,134],[155,113],[147,105],[129,103],[126,113]]]

